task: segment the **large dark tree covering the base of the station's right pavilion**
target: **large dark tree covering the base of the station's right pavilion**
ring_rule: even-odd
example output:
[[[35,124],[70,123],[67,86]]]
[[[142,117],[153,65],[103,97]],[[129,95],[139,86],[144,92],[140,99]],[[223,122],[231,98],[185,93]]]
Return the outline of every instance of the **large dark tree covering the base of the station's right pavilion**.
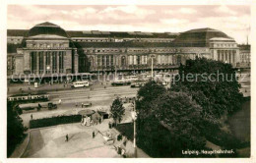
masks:
[[[191,94],[203,108],[202,116],[214,122],[241,107],[239,87],[230,64],[197,58],[180,67],[170,90]]]

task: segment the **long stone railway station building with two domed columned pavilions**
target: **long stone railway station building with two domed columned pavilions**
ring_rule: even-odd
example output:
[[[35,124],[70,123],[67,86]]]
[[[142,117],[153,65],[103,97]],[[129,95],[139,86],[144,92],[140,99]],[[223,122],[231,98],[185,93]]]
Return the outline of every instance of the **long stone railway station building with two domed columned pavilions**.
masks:
[[[117,72],[171,72],[187,59],[240,62],[233,38],[213,28],[181,33],[64,30],[42,23],[8,29],[8,77]]]

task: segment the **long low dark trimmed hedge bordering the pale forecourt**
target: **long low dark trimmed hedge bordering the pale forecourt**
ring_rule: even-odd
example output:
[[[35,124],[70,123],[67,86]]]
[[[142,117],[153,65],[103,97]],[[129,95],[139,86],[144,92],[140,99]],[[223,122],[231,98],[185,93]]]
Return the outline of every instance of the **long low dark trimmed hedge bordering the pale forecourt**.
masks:
[[[62,115],[57,117],[35,119],[30,121],[30,128],[43,128],[61,124],[70,124],[81,122],[81,115]]]

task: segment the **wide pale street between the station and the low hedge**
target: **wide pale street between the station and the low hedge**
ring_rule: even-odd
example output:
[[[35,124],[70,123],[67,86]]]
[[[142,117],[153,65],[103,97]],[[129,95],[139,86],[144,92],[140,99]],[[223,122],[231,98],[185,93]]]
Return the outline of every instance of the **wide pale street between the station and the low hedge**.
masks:
[[[50,101],[57,103],[61,99],[61,104],[58,104],[57,110],[41,110],[32,111],[22,114],[20,117],[23,119],[24,126],[29,127],[31,114],[33,119],[40,119],[44,117],[52,117],[58,115],[77,114],[82,108],[81,104],[92,102],[93,106],[90,109],[103,109],[108,110],[114,98],[120,97],[134,97],[137,94],[138,88],[131,88],[130,86],[108,86],[106,88],[96,87],[90,90],[90,87],[76,88],[70,90],[48,91]],[[78,107],[76,107],[78,104]],[[124,105],[128,108],[129,104]],[[130,119],[129,111],[126,111],[123,121]]]

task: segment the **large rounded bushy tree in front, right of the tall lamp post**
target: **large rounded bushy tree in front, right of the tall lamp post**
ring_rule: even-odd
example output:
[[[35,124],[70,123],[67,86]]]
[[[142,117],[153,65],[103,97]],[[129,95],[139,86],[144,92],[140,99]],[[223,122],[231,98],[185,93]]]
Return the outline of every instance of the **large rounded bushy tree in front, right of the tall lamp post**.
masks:
[[[138,131],[138,143],[153,157],[184,157],[182,150],[203,149],[202,108],[185,92],[166,91],[152,102],[152,114]]]

